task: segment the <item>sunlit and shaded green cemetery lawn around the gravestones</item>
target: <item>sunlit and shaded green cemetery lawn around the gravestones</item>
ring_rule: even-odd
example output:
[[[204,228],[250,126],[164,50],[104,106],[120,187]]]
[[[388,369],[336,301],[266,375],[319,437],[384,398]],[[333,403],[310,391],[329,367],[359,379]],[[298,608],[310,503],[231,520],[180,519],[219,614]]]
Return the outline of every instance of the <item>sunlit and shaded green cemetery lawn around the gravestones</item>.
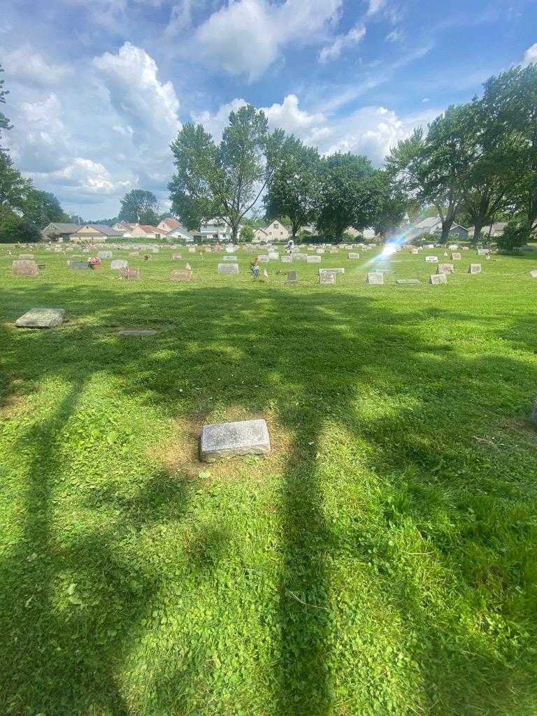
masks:
[[[2,716],[537,713],[536,251],[447,286],[37,251],[0,252]],[[253,417],[268,458],[198,462]]]

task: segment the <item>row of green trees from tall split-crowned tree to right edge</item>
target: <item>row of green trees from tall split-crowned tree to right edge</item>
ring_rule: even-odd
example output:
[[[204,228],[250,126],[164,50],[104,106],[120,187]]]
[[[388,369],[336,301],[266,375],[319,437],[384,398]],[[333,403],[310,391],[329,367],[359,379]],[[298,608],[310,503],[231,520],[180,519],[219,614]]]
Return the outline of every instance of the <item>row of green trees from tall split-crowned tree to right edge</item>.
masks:
[[[284,130],[269,132],[251,105],[231,112],[220,142],[187,123],[170,147],[173,213],[192,230],[220,216],[236,239],[260,198],[267,220],[285,220],[293,236],[314,223],[332,241],[349,226],[385,237],[405,214],[430,208],[442,243],[455,221],[473,226],[477,243],[483,227],[508,220],[503,248],[522,246],[537,228],[535,65],[490,77],[481,97],[448,107],[398,142],[382,169],[363,155],[321,156]]]

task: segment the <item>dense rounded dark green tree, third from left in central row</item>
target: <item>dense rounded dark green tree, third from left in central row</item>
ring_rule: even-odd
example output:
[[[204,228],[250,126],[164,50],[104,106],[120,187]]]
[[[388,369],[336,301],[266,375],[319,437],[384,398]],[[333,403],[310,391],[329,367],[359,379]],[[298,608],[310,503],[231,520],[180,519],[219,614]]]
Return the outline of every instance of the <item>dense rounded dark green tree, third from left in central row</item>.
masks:
[[[319,233],[341,241],[349,226],[372,226],[379,211],[381,187],[371,162],[363,155],[335,153],[321,160],[316,198]]]

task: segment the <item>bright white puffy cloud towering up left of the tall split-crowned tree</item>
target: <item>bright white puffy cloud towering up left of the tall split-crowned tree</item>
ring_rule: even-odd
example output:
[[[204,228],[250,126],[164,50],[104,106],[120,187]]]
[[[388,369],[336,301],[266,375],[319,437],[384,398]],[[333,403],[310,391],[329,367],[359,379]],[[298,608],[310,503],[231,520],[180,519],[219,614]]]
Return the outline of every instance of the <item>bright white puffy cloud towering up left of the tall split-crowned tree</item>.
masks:
[[[117,54],[95,57],[93,67],[105,85],[117,115],[140,141],[165,137],[180,129],[179,100],[171,82],[160,82],[157,63],[141,47],[125,42]]]

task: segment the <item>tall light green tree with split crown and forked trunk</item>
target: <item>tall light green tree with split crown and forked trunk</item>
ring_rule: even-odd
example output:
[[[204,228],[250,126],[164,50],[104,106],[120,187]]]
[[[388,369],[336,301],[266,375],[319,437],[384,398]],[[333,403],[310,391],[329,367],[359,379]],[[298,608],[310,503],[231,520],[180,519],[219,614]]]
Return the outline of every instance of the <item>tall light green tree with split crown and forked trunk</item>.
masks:
[[[218,146],[202,125],[185,124],[170,145],[173,212],[191,230],[221,217],[237,241],[241,220],[281,163],[284,137],[283,130],[269,134],[264,112],[252,105],[231,112]]]

